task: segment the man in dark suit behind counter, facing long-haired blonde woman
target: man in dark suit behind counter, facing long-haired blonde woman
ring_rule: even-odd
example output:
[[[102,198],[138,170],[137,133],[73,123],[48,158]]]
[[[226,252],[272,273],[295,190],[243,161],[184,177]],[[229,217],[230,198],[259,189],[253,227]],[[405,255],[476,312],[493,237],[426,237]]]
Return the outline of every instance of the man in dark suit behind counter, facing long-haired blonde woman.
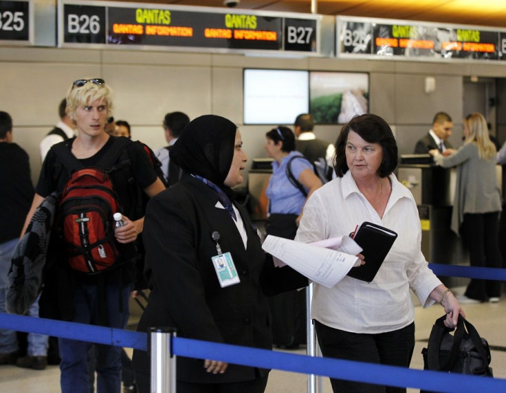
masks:
[[[438,112],[432,120],[432,128],[426,136],[419,139],[415,146],[415,154],[427,154],[429,150],[438,149],[443,155],[450,155],[453,146],[448,142],[452,135],[453,122],[452,117],[445,112]]]

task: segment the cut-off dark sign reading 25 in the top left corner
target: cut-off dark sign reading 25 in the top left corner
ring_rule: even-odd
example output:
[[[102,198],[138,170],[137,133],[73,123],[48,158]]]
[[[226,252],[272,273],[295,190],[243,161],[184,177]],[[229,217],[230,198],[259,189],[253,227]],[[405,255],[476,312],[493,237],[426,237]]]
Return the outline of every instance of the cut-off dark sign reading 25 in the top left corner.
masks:
[[[0,41],[31,43],[30,1],[0,1]]]

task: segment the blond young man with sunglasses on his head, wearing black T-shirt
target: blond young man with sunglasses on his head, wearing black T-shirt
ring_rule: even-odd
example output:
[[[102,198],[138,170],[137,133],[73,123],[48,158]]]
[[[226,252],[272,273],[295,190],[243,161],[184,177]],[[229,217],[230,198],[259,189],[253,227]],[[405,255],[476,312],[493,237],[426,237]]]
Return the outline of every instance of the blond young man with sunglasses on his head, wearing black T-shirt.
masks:
[[[30,222],[36,207],[54,191],[62,191],[69,172],[57,151],[64,146],[85,167],[98,166],[100,158],[112,151],[114,144],[122,138],[113,137],[104,131],[107,119],[111,116],[111,89],[104,80],[78,79],[67,92],[67,114],[78,129],[78,136],[61,144],[52,146],[44,161],[39,182],[35,188],[32,207],[25,221]],[[164,190],[153,166],[148,161],[142,146],[129,140],[124,146],[131,160],[133,186],[140,188],[148,197]],[[122,157],[122,156],[121,156]],[[119,157],[120,158],[120,157]],[[119,159],[118,158],[118,159]],[[107,168],[104,168],[107,169]],[[131,200],[131,193],[124,192],[122,173],[111,173],[111,181],[118,191],[124,207],[123,219],[126,223],[116,229],[114,236],[120,244],[133,242],[142,232],[144,216],[139,216],[137,203]],[[120,184],[121,183],[121,184]],[[131,184],[131,183],[129,183]],[[126,189],[128,190],[128,189]],[[65,249],[65,245],[62,245]],[[51,275],[57,277],[51,291],[43,293],[48,304],[58,304],[58,315],[47,315],[84,324],[124,328],[129,317],[128,300],[135,278],[135,265],[132,260],[122,261],[119,267],[95,275],[86,275],[69,268],[67,256],[58,260]],[[48,293],[51,293],[48,294]],[[50,297],[53,296],[53,297]],[[44,315],[46,316],[46,315]],[[61,353],[61,391],[63,393],[88,393],[88,354],[91,343],[72,339],[58,339]],[[99,393],[120,393],[121,389],[121,348],[96,345],[97,391]]]

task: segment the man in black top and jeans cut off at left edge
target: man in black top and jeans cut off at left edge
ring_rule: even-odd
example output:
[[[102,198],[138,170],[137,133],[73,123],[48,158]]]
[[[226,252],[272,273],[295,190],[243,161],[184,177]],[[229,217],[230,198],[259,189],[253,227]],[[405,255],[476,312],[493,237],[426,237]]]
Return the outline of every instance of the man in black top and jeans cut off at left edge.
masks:
[[[12,170],[16,168],[16,170]],[[5,313],[5,287],[12,253],[19,242],[26,214],[34,197],[28,154],[12,142],[12,117],[0,111],[0,312]],[[39,317],[39,300],[28,311]],[[44,370],[47,366],[47,336],[28,334],[28,356],[19,357],[17,334],[0,329],[0,364]]]

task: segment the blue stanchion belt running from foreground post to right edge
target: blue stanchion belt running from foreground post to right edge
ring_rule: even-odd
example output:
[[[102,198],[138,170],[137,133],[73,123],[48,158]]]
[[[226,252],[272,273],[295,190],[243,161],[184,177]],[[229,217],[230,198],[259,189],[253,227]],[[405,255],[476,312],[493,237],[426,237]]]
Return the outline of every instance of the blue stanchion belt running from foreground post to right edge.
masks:
[[[214,359],[245,366],[275,368],[277,370],[378,383],[400,388],[407,387],[449,393],[506,392],[506,379],[413,370],[342,359],[308,357],[180,337],[173,339],[173,352],[178,356]]]

